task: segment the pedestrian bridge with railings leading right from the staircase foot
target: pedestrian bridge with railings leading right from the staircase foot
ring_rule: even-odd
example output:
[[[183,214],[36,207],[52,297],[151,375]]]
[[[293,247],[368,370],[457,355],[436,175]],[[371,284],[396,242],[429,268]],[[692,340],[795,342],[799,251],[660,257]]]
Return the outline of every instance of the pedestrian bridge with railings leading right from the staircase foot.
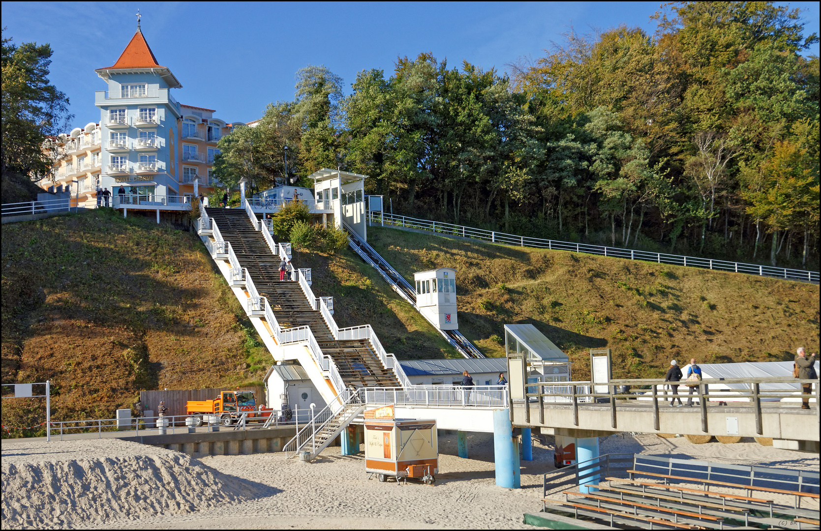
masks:
[[[819,389],[813,410],[800,409],[796,382],[783,378],[708,378],[688,396],[693,406],[670,407],[660,379],[527,383],[524,389],[477,386],[365,388],[369,405],[393,404],[397,416],[436,419],[438,428],[493,432],[492,410],[508,409],[518,428],[554,428],[599,433],[681,433],[718,437],[771,437],[819,441]],[[817,383],[808,380],[806,383]],[[731,384],[744,384],[747,388]],[[764,389],[762,389],[764,386]],[[687,387],[681,386],[686,393]],[[512,395],[512,398],[511,398]],[[524,395],[524,396],[523,396]]]

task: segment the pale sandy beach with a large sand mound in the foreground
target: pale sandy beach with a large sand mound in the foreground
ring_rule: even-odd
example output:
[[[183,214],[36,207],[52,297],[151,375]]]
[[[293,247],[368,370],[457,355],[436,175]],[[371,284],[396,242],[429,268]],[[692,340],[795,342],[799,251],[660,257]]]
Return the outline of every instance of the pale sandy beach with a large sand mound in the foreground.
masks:
[[[493,436],[439,436],[433,486],[379,483],[361,455],[330,447],[313,463],[284,454],[187,455],[116,439],[2,444],[2,528],[108,529],[521,529],[541,508],[542,475],[553,470],[552,438],[534,440],[521,489],[498,488]],[[755,442],[694,445],[655,435],[607,437],[604,453],[643,453],[743,465],[819,469],[819,455]],[[817,504],[816,504],[817,505]]]

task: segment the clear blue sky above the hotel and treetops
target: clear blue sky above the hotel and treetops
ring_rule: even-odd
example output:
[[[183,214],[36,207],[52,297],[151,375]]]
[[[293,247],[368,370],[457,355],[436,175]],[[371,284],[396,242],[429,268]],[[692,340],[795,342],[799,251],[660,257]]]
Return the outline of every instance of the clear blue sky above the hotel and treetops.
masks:
[[[818,2],[785,2],[805,10],[819,31]],[[432,52],[451,66],[466,60],[507,70],[517,57],[538,58],[571,30],[626,24],[649,33],[658,2],[221,3],[2,2],[2,25],[15,43],[50,43],[54,85],[71,100],[75,125],[98,121],[95,68],[110,66],[136,29],[183,88],[181,103],[217,109],[226,121],[259,118],[265,106],[294,96],[294,74],[324,64],[350,93],[356,73],[392,71],[397,56]],[[819,53],[818,44],[808,53]]]

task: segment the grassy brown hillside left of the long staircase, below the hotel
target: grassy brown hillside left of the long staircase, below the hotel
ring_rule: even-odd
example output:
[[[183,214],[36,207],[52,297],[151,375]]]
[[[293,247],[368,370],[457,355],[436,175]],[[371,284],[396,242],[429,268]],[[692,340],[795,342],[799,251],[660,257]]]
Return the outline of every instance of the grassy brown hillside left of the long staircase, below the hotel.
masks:
[[[193,232],[105,209],[3,226],[2,382],[50,379],[55,419],[112,418],[140,390],[255,381],[268,364]],[[38,415],[3,401],[5,425]]]

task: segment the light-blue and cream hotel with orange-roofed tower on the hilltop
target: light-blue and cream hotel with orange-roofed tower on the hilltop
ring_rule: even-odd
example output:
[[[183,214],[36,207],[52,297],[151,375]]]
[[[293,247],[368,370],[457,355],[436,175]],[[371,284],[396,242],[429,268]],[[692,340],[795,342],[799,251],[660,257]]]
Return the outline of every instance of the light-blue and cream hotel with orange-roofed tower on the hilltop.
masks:
[[[62,151],[53,176],[40,185],[62,185],[85,206],[99,204],[106,189],[117,203],[175,210],[195,194],[195,181],[200,194],[212,193],[217,143],[241,122],[228,124],[214,118],[213,109],[178,103],[172,89],[182,85],[158,63],[139,25],[117,62],[96,72],[108,85],[95,94],[99,123],[57,138]]]

